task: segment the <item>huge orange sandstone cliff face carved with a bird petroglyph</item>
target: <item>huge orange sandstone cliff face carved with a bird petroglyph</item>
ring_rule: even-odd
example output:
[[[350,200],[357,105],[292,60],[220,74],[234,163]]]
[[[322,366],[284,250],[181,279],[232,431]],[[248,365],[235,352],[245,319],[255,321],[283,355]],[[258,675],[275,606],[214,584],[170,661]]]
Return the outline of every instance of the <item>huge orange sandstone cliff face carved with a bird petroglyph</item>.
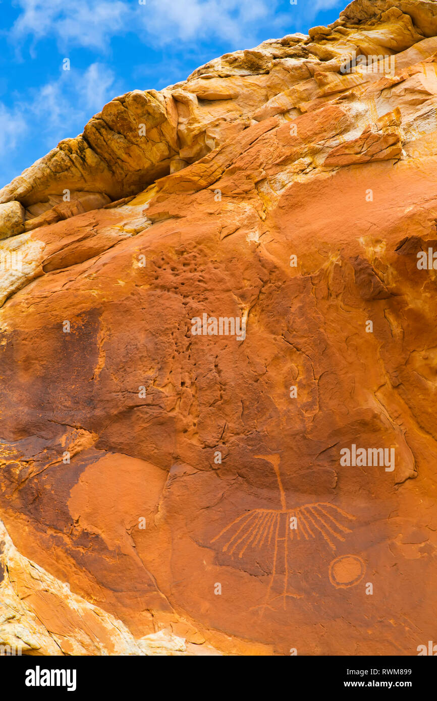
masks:
[[[435,34],[431,1],[355,0],[156,93],[166,147],[141,137],[137,171],[143,142],[119,170],[90,147],[82,179],[43,159],[4,188],[26,208],[0,242],[20,261],[0,287],[0,509],[21,558],[4,641],[33,626],[32,654],[56,654],[55,634],[60,654],[415,655],[435,639]],[[152,100],[135,95],[104,108],[114,144]],[[81,148],[93,133],[105,160],[93,119]],[[29,561],[47,584],[27,601]],[[98,644],[74,606],[105,612]]]

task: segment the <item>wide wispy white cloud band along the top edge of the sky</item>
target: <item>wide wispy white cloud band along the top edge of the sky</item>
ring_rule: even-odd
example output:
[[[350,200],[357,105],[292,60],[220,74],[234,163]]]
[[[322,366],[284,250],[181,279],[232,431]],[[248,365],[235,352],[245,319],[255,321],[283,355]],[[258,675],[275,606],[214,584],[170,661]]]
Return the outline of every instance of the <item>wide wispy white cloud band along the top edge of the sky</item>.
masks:
[[[328,0],[318,0],[328,1]],[[277,0],[18,0],[15,40],[55,36],[62,48],[105,48],[112,36],[134,32],[155,45],[201,39],[256,42],[262,22],[277,23]],[[288,15],[283,15],[284,22]]]

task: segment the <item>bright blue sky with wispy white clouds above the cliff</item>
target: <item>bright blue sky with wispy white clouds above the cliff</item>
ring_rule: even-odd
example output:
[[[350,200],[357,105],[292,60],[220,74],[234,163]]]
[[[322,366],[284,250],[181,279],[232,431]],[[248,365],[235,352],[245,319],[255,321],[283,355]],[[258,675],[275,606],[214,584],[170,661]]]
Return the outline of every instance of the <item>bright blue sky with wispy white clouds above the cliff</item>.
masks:
[[[0,0],[0,187],[61,139],[80,134],[112,97],[161,90],[229,51],[307,34],[336,20],[346,4]]]

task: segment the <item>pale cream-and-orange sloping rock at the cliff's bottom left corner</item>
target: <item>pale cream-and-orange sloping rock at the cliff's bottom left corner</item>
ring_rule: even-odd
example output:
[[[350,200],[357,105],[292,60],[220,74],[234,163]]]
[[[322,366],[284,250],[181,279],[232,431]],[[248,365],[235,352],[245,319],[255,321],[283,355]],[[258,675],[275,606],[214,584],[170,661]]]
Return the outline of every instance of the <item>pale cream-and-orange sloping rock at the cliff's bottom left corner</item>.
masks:
[[[0,548],[0,645],[7,655],[215,653],[165,629],[135,640],[120,620],[22,557],[1,522]]]

